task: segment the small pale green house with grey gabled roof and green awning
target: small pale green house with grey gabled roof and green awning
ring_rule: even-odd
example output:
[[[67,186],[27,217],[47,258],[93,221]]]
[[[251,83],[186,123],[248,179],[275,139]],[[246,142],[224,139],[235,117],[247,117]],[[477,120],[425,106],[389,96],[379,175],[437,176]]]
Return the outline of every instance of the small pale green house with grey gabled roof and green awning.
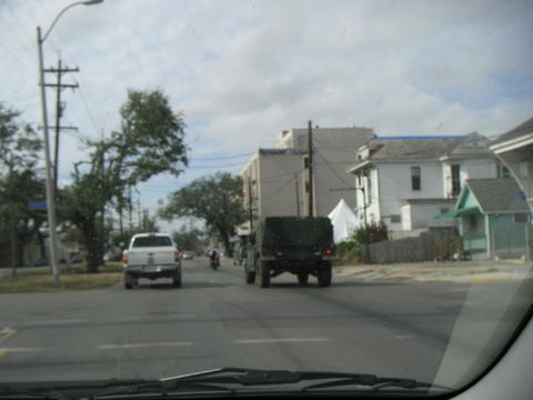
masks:
[[[452,211],[463,250],[473,258],[514,258],[529,253],[531,212],[513,178],[469,179]]]

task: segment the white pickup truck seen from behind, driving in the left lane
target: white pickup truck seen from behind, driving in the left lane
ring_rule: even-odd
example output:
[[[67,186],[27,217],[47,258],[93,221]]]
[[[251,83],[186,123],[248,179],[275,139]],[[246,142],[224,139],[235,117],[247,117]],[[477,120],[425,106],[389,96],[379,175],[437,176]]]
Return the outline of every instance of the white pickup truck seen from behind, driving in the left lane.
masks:
[[[181,254],[168,233],[134,234],[123,252],[124,288],[132,289],[139,278],[172,278],[181,286]]]

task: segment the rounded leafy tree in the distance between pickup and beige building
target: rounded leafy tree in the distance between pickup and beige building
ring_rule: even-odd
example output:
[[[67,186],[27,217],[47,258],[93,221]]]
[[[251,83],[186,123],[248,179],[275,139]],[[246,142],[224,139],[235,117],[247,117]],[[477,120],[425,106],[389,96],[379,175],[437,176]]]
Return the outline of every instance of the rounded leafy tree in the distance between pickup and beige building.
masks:
[[[245,220],[242,179],[227,172],[197,179],[170,194],[168,204],[159,212],[169,221],[177,217],[204,220],[231,257],[230,237],[234,234],[235,226]]]

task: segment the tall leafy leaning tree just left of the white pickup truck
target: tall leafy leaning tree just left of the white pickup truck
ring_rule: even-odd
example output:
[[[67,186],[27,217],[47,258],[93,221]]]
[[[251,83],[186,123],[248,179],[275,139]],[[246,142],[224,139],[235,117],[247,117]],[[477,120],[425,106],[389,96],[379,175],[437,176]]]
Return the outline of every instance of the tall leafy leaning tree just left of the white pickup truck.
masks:
[[[120,116],[119,131],[88,143],[89,160],[76,164],[63,191],[62,216],[82,231],[89,272],[103,262],[105,207],[121,213],[129,187],[162,172],[179,176],[188,164],[183,116],[172,111],[163,92],[128,91]]]

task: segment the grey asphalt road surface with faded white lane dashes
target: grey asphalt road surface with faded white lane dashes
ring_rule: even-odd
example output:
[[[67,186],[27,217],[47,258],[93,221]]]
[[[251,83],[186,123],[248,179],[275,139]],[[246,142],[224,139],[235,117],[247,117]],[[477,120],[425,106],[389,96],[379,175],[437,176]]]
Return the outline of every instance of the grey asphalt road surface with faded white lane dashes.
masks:
[[[284,274],[260,289],[229,261],[217,271],[207,259],[183,264],[180,289],[141,280],[134,290],[1,294],[0,381],[162,378],[220,367],[431,381],[466,297],[469,321],[482,330],[510,284],[334,277],[319,288]]]

